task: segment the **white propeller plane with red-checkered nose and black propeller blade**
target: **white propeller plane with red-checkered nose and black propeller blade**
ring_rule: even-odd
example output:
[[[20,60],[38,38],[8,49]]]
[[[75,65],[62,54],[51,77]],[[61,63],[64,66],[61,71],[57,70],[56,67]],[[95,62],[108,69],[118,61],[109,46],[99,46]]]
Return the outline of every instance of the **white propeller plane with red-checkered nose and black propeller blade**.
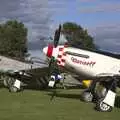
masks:
[[[96,98],[96,84],[102,84],[104,89],[101,94],[97,94],[96,108],[103,112],[111,111],[115,103],[116,87],[120,87],[120,56],[58,45],[60,34],[61,25],[55,32],[54,45],[43,48],[45,55],[51,58],[50,64],[55,59],[57,65],[92,80],[82,94],[85,101]]]

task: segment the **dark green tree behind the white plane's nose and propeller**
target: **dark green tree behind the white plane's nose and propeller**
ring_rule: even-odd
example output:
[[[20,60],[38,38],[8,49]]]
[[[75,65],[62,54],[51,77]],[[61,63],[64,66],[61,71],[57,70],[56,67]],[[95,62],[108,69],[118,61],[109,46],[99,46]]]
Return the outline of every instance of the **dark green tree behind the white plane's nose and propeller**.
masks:
[[[70,46],[92,50],[96,49],[93,38],[88,34],[87,30],[76,23],[64,23],[62,33],[65,35]]]

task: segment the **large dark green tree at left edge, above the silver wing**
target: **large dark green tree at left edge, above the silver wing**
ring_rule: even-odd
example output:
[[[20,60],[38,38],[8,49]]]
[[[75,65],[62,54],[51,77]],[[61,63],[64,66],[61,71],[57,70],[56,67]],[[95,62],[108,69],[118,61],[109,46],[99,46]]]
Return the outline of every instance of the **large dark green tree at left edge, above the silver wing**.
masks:
[[[9,20],[0,24],[0,54],[23,60],[27,53],[27,28],[22,22]]]

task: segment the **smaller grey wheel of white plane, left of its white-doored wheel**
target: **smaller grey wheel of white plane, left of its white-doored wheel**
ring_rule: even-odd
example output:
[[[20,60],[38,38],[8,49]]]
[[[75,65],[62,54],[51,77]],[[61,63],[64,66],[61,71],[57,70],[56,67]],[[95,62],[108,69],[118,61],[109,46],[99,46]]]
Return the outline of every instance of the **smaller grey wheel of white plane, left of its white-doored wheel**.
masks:
[[[81,97],[82,97],[82,100],[85,102],[92,102],[93,100],[93,95],[91,92],[83,92]]]

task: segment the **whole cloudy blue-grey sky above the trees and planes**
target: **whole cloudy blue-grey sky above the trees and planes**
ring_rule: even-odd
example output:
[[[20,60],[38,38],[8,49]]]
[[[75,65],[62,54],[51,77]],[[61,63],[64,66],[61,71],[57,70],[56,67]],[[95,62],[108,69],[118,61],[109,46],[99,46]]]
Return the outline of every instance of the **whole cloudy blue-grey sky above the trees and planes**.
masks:
[[[66,21],[87,28],[101,49],[120,52],[120,0],[1,0],[0,22],[9,19],[28,28],[32,56],[41,56],[42,38]]]

